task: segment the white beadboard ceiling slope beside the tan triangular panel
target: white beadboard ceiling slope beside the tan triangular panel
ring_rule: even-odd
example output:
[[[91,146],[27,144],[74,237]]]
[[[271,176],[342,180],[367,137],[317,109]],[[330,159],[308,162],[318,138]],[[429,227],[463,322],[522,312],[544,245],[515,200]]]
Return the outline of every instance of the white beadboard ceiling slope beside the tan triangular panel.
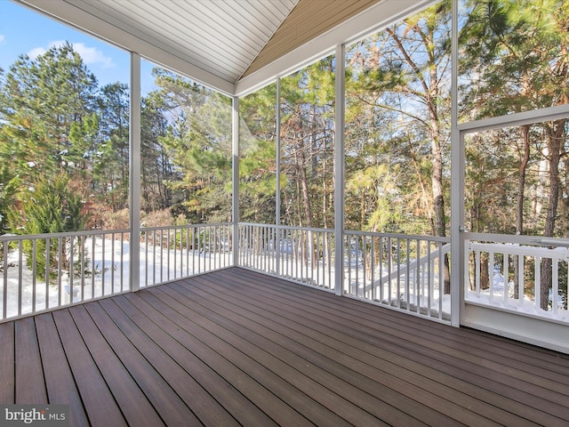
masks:
[[[66,0],[236,82],[298,0]]]

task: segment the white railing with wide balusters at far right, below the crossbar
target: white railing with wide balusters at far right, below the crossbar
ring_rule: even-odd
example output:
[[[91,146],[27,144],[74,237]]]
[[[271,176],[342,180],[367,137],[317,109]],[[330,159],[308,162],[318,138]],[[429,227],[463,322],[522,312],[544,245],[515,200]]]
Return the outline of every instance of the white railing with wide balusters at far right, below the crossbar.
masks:
[[[488,242],[466,241],[469,269],[465,278],[465,301],[569,321],[569,242],[519,236],[515,238],[516,243],[508,240],[493,235]],[[541,270],[549,264],[551,282],[543,284]],[[547,309],[541,302],[543,286],[548,288]]]

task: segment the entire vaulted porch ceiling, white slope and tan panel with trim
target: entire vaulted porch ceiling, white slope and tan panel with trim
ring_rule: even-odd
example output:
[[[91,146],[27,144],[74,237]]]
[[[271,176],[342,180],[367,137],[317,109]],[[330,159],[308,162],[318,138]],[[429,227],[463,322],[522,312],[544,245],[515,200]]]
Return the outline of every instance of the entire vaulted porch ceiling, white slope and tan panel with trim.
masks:
[[[229,94],[246,91],[295,63],[321,55],[335,44],[429,3],[429,0],[15,1]],[[270,68],[271,64],[275,65]]]

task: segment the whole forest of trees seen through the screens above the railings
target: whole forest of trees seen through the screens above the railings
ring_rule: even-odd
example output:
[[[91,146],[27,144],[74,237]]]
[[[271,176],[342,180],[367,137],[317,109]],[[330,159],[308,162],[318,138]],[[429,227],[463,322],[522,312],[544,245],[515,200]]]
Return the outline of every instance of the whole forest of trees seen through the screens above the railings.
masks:
[[[569,2],[461,0],[459,12],[461,123],[569,103]],[[346,46],[345,165],[333,163],[336,58],[283,77],[279,100],[276,85],[243,97],[240,220],[331,228],[342,185],[347,229],[446,236],[451,18],[445,0]],[[150,213],[229,221],[231,100],[160,68],[153,77],[141,117],[145,224],[156,225]],[[2,71],[1,233],[128,225],[128,95],[120,82],[100,87],[71,44]],[[455,221],[569,237],[565,118],[475,133],[465,149],[466,217]]]

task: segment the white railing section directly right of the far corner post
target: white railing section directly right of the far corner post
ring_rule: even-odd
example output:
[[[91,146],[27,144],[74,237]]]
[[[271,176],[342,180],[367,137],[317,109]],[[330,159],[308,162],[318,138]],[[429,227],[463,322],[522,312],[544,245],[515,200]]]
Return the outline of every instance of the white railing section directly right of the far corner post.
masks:
[[[239,266],[333,290],[333,230],[239,223]]]

